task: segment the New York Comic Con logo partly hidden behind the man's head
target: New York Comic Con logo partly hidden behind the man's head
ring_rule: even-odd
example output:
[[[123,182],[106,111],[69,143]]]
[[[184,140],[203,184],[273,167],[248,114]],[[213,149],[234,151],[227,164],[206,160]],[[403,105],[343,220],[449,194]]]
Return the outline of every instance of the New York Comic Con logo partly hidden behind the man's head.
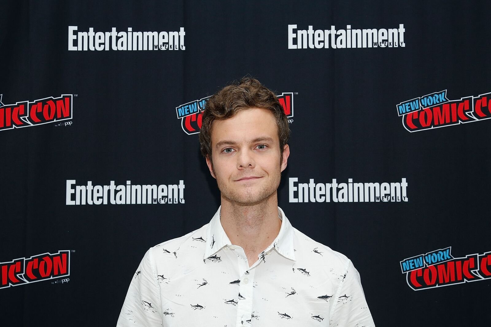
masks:
[[[293,92],[282,93],[277,97],[286,117],[293,117]],[[204,110],[205,103],[209,98],[194,100],[176,107],[177,119],[181,120],[181,126],[186,134],[199,133],[201,129],[201,112]],[[288,123],[293,123],[293,119],[289,119]]]

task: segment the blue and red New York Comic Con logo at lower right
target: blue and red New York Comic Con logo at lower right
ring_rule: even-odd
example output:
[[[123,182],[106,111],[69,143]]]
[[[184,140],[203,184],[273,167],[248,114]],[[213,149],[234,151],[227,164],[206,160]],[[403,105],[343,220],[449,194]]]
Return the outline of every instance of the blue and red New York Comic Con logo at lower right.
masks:
[[[491,252],[455,258],[452,247],[416,255],[400,262],[414,291],[491,279]]]

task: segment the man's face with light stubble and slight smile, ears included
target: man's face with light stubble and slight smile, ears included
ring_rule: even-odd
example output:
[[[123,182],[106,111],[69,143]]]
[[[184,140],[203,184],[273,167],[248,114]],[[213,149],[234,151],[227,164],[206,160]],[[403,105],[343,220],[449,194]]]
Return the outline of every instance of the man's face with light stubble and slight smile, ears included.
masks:
[[[278,127],[270,111],[244,109],[214,121],[211,141],[213,165],[209,158],[206,163],[222,197],[254,204],[276,193],[290,149],[285,145],[280,162]]]

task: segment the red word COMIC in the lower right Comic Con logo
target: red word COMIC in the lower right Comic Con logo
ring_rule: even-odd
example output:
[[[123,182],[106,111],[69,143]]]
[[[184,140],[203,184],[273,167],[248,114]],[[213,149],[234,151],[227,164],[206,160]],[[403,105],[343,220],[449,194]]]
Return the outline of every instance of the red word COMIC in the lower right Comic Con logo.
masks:
[[[413,290],[479,280],[481,278],[472,273],[472,271],[478,269],[477,263],[477,254],[471,254],[465,258],[456,258],[440,264],[413,270],[406,274],[406,278],[409,287]]]

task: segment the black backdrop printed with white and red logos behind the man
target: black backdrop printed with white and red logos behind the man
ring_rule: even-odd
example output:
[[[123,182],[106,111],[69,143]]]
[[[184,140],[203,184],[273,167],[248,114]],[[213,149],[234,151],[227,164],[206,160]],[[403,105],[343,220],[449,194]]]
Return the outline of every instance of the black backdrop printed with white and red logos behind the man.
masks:
[[[452,1],[453,2],[453,1]],[[145,251],[219,205],[206,99],[278,95],[292,224],[377,326],[491,319],[490,1],[7,1],[2,326],[114,326]]]

